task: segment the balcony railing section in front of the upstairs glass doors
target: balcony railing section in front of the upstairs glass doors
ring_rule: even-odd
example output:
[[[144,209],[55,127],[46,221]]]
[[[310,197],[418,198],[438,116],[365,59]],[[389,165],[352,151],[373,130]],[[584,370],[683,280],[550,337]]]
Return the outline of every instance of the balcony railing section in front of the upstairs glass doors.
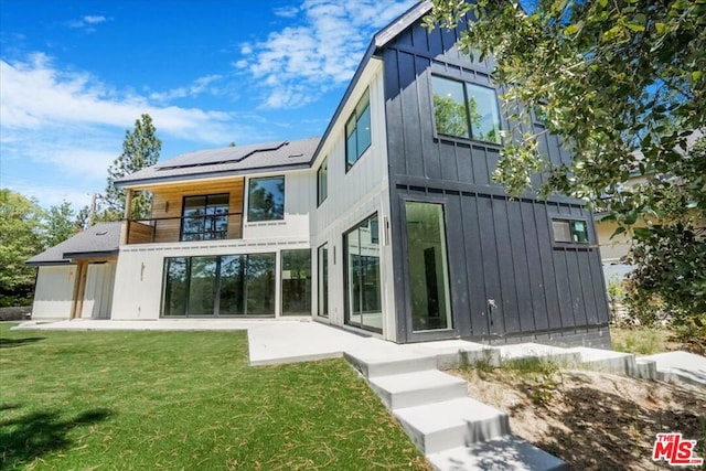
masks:
[[[161,244],[243,238],[243,213],[128,220],[127,244]]]

